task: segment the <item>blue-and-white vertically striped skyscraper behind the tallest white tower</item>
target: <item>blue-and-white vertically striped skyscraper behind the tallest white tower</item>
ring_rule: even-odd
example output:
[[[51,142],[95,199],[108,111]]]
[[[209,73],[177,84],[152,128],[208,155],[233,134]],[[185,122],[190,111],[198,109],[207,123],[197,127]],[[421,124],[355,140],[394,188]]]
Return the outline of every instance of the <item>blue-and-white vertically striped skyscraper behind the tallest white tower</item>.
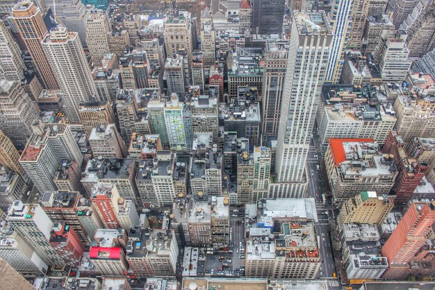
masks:
[[[352,24],[350,19],[350,10],[352,10],[353,0],[336,1],[332,8],[331,24],[334,37],[332,38],[331,56],[329,57],[329,64],[325,81],[331,83],[338,83],[341,76],[341,69],[343,68],[345,50],[345,39],[347,29]],[[338,4],[337,4],[338,2]]]

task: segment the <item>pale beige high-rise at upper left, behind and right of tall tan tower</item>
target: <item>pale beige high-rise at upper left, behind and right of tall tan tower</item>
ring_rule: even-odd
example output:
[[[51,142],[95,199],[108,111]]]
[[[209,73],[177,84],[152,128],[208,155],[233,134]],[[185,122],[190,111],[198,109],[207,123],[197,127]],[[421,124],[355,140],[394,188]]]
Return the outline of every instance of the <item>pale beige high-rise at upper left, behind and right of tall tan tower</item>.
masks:
[[[102,10],[91,10],[85,22],[86,44],[95,65],[101,65],[105,54],[108,54],[108,31],[110,31],[107,13]]]

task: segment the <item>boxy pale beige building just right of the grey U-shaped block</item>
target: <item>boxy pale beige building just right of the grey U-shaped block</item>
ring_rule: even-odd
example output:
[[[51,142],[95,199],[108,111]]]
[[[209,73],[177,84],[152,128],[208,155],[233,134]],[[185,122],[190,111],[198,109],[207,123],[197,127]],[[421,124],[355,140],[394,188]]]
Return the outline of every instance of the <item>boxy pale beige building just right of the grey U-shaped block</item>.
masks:
[[[120,159],[127,155],[126,146],[115,124],[98,125],[92,129],[88,140],[95,158],[102,156],[104,159]]]

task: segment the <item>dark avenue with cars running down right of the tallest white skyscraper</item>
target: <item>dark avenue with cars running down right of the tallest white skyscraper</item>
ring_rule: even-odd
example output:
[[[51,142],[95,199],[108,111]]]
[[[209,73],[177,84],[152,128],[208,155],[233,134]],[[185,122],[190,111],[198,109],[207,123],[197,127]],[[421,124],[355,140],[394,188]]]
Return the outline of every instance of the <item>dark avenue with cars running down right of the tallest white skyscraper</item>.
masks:
[[[324,181],[325,175],[322,174],[325,170],[325,164],[320,150],[320,140],[311,139],[306,166],[309,175],[308,197],[315,199],[315,207],[318,214],[318,222],[315,223],[315,230],[318,234],[318,241],[320,242],[320,257],[322,257],[319,277],[332,279],[334,273],[337,273],[337,271],[331,243],[329,219],[330,217],[334,219],[335,214],[331,209],[331,204],[329,204],[329,197],[327,197],[325,201],[322,200],[322,194],[328,193],[329,188],[326,180]],[[335,288],[335,286],[338,287],[338,283],[334,283],[336,283],[336,285],[331,285],[331,289],[339,289]]]

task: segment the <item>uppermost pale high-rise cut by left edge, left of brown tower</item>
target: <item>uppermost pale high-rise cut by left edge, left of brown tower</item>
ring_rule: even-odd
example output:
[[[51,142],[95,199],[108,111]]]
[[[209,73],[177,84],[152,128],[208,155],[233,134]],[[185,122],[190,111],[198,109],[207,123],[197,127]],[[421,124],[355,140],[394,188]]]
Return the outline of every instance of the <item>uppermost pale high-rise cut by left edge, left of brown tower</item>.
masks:
[[[21,50],[3,22],[0,23],[0,76],[8,81],[21,81],[24,77]]]

